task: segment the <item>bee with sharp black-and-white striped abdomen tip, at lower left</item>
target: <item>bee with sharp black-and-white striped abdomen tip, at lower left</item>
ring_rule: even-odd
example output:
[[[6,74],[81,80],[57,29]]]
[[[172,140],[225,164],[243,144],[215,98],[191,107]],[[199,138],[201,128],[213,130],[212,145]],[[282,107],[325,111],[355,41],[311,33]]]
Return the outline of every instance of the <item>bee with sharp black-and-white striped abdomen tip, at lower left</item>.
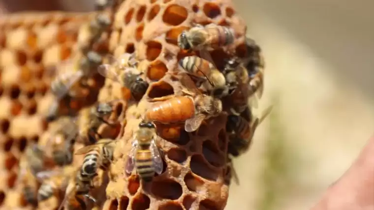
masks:
[[[97,169],[106,170],[113,159],[114,143],[112,139],[100,139],[96,144],[79,149],[75,155],[86,154],[80,170],[81,177],[91,180],[97,176]]]

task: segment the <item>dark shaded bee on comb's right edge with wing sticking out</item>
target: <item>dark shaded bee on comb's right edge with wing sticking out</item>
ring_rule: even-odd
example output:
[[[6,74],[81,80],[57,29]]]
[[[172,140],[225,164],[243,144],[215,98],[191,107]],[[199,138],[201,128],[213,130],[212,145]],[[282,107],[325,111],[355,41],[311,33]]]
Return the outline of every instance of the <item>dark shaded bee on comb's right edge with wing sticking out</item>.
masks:
[[[242,116],[229,115],[226,122],[226,131],[230,133],[228,153],[237,157],[248,151],[254,131],[261,122],[270,114],[273,106],[269,106],[262,112],[260,118],[248,122]]]

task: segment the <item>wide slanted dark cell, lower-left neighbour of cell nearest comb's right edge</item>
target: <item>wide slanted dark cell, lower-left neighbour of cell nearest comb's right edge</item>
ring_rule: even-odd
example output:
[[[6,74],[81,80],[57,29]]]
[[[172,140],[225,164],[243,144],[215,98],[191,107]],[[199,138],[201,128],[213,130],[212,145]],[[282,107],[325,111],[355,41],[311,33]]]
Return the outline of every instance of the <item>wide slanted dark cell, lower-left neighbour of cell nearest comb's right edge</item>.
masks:
[[[216,181],[218,178],[218,173],[212,170],[205,162],[204,157],[201,157],[200,155],[194,155],[191,157],[190,167],[194,174],[204,179]]]

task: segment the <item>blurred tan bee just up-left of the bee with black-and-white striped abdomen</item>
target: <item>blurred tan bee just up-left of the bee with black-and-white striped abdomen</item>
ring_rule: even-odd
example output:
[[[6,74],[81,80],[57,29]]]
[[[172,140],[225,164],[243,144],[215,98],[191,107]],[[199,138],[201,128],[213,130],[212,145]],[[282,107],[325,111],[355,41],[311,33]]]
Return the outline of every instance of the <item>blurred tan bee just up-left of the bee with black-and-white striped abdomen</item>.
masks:
[[[46,143],[46,148],[52,151],[51,157],[59,166],[70,164],[73,160],[73,146],[78,128],[71,118],[61,118],[59,127],[52,131],[51,137]]]

